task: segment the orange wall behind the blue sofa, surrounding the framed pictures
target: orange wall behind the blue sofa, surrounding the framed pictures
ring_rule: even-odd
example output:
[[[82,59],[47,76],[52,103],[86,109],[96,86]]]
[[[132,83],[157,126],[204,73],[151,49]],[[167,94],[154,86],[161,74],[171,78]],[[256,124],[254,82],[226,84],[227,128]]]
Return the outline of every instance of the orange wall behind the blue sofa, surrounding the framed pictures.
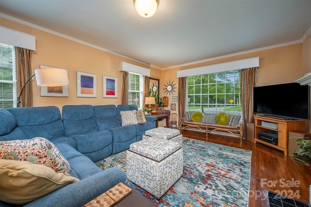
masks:
[[[66,38],[52,35],[1,18],[0,25],[36,36],[36,51],[32,56],[32,70],[41,65],[69,70],[69,97],[41,97],[40,87],[33,79],[33,106],[55,105],[60,109],[66,104],[121,104],[122,75],[119,63],[127,62],[143,68],[147,66],[126,58],[104,52]],[[97,98],[77,97],[77,71],[97,74]],[[156,75],[157,74],[157,75]],[[103,98],[103,75],[118,78],[118,98]],[[160,78],[160,70],[152,69],[152,77]]]

